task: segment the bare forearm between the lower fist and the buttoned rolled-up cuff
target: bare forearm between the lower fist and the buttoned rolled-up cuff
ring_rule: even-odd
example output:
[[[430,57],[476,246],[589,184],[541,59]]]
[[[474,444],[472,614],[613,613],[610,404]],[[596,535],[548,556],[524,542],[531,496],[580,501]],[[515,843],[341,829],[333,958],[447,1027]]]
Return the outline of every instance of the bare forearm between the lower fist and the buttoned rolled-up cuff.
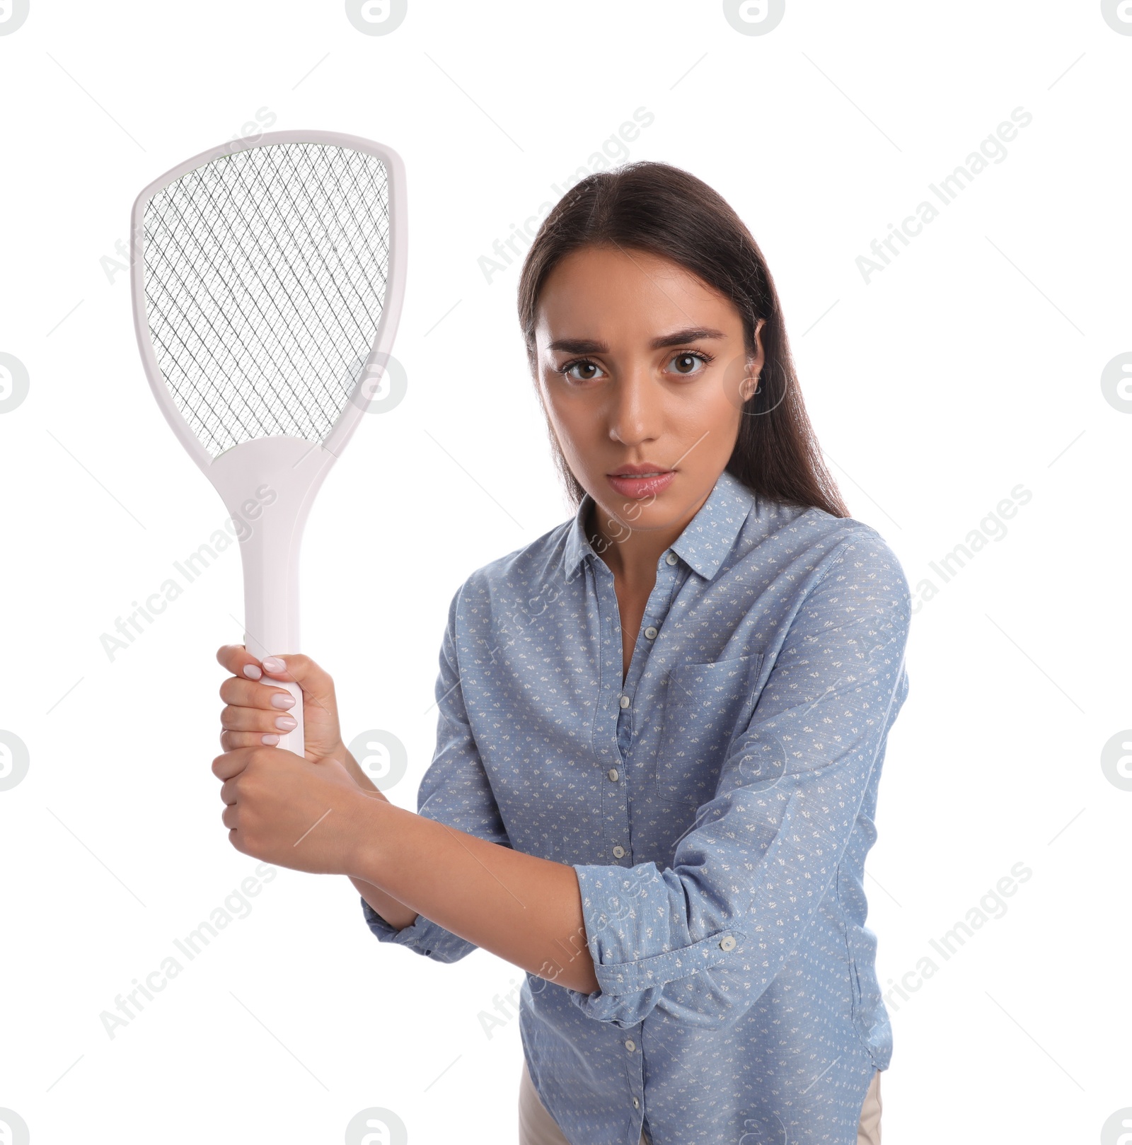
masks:
[[[577,875],[443,823],[369,799],[351,878],[541,978],[597,990]],[[411,919],[409,919],[411,922]],[[408,923],[406,923],[408,925]]]

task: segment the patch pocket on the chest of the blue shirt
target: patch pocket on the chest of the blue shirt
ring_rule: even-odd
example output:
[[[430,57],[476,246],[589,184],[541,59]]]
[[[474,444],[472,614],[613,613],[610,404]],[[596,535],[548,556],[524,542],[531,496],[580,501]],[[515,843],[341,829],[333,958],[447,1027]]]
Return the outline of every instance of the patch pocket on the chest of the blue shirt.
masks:
[[[713,798],[728,745],[754,711],[762,662],[760,653],[671,669],[657,748],[659,798],[695,806]]]

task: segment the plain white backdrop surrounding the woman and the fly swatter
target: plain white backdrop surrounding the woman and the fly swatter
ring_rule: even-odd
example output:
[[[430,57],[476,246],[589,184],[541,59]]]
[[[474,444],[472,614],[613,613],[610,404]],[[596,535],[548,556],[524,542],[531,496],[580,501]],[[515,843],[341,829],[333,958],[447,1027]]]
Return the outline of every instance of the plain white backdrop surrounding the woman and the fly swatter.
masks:
[[[1132,349],[1130,68],[1092,0],[789,0],[765,35],[673,0],[409,0],[387,35],[335,2],[31,0],[0,35],[0,352],[30,376],[0,414],[0,728],[30,752],[0,792],[0,1106],[32,1140],[337,1143],[367,1106],[415,1145],[516,1139],[517,1022],[489,1039],[480,1014],[518,972],[379,946],[344,878],[281,870],[113,1039],[100,1020],[256,866],[209,771],[235,547],[112,661],[100,637],[225,519],[107,260],[143,185],[260,109],[408,172],[408,395],[362,419],[302,563],[305,650],[347,740],[409,751],[395,802],[431,758],[451,594],[567,515],[518,263],[488,284],[478,259],[645,108],[629,158],[692,171],[750,227],[852,515],[913,590],[941,585],[868,859],[881,981],[1033,872],[893,1010],[886,1140],[1092,1142],[1132,1106],[1132,791],[1100,763],[1132,725],[1132,417],[1101,389]],[[1008,157],[866,285],[857,256],[1015,108],[1033,118]],[[1007,535],[944,584],[928,562],[1020,483]]]

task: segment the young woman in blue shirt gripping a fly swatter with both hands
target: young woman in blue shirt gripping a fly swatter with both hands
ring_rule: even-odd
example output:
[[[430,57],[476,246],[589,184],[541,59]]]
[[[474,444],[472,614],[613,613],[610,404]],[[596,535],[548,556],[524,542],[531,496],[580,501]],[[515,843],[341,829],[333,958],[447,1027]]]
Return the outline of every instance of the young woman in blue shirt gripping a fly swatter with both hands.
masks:
[[[223,823],[372,932],[527,971],[524,1145],[879,1140],[865,854],[909,589],[822,464],[762,253],[677,168],[591,175],[519,317],[573,520],[451,601],[418,813],[305,656],[219,653]],[[306,758],[280,750],[304,692]]]

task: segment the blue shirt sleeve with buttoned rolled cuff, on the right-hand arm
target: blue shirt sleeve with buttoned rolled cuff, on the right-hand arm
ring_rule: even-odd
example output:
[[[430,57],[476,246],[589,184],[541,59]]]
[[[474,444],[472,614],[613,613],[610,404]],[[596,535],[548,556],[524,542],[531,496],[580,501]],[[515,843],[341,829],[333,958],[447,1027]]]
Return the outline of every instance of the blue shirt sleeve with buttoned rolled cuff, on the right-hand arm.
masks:
[[[653,1010],[715,1028],[796,949],[854,831],[907,694],[910,594],[872,529],[843,542],[794,615],[714,798],[670,867],[577,864],[598,1021]]]

